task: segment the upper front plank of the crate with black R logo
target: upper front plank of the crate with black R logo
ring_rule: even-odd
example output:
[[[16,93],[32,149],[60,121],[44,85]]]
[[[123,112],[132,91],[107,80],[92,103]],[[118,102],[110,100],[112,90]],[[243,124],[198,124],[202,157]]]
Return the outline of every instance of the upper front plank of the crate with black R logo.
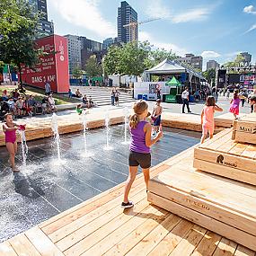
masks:
[[[255,153],[256,153],[256,150],[254,151],[254,154]],[[239,169],[247,172],[256,173],[256,161],[254,159],[246,158],[243,156],[219,153],[216,151],[210,151],[207,149],[196,147],[194,150],[194,158],[203,160],[206,162],[210,162],[210,163],[215,163],[216,168],[218,169],[221,169],[222,166],[224,165],[226,167],[229,167],[231,170]],[[194,166],[194,167],[198,168],[197,166]],[[203,171],[207,172],[207,170],[203,170]]]

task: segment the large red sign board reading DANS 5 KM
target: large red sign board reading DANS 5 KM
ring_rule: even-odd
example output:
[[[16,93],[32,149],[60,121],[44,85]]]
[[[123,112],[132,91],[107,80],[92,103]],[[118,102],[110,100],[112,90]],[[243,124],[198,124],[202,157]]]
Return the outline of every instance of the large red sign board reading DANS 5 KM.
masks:
[[[67,93],[69,89],[67,40],[58,35],[51,35],[35,41],[44,56],[40,63],[31,69],[22,67],[22,81],[36,87],[45,88],[49,83],[56,93]]]

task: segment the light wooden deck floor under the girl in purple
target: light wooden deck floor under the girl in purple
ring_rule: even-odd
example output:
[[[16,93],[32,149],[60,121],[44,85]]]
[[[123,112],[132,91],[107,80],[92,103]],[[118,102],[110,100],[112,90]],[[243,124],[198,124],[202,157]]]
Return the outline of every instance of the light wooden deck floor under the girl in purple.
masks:
[[[155,166],[151,175],[188,159],[191,150]],[[207,228],[149,204],[141,174],[130,193],[134,208],[119,207],[123,189],[124,184],[120,184],[1,243],[0,255],[256,255]]]

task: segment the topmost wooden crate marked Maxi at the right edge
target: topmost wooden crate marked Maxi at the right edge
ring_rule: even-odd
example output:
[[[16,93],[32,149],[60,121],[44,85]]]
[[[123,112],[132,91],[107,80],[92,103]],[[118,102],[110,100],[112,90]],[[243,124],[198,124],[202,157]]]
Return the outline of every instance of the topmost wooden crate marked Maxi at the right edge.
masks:
[[[234,120],[232,138],[236,142],[256,144],[256,113]]]

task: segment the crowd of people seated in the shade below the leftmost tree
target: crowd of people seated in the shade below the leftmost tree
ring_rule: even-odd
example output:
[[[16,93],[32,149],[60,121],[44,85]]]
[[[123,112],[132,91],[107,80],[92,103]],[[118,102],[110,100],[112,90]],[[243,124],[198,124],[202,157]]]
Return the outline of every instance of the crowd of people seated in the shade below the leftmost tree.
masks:
[[[0,98],[1,112],[3,118],[4,113],[10,112],[13,118],[22,118],[24,116],[34,116],[38,113],[46,114],[57,111],[52,93],[46,94],[41,101],[36,100],[34,95],[25,95],[18,92],[18,89],[8,93],[4,90]]]

